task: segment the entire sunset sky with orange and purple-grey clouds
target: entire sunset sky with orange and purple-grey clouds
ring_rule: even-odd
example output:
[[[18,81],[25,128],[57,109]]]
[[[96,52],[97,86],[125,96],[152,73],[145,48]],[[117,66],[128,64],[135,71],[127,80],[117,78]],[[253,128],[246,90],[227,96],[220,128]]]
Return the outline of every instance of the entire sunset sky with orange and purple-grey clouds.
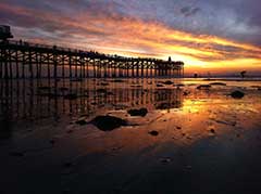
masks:
[[[1,0],[15,39],[261,73],[260,0]]]

